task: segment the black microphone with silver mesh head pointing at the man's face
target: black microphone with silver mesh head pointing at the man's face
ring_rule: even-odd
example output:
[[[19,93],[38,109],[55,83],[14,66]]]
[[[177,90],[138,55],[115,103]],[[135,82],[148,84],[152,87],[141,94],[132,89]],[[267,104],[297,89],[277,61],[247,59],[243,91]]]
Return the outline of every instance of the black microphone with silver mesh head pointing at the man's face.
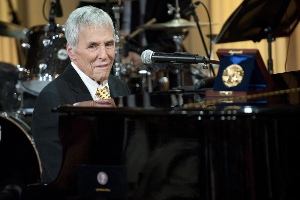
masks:
[[[175,52],[175,53],[162,53],[153,52],[151,50],[143,51],[141,59],[145,64],[153,63],[208,63],[208,59],[205,56],[199,56],[198,54],[190,54],[186,52]]]

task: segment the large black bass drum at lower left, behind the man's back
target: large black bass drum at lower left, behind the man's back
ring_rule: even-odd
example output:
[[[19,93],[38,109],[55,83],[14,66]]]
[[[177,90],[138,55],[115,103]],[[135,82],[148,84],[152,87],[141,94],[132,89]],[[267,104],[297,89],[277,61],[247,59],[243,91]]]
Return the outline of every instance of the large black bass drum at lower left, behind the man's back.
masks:
[[[40,182],[41,162],[30,128],[19,118],[0,114],[0,190]]]

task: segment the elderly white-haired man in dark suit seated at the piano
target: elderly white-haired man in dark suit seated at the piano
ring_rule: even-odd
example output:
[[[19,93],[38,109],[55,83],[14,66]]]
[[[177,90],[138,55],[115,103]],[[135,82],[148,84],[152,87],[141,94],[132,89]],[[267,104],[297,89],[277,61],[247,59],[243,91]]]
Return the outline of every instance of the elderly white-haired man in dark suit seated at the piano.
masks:
[[[107,13],[92,6],[76,9],[66,21],[65,36],[72,62],[41,91],[32,115],[31,130],[42,162],[41,182],[54,181],[62,162],[58,113],[51,112],[54,107],[88,100],[110,103],[113,97],[130,95],[126,83],[109,74],[115,38]]]

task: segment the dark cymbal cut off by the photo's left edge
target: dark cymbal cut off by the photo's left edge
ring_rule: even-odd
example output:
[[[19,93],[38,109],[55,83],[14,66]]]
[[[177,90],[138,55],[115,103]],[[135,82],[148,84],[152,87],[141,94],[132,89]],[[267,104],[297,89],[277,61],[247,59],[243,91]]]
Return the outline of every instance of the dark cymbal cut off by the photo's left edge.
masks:
[[[0,21],[0,35],[19,39],[26,39],[27,31],[27,28],[19,26],[15,23]]]

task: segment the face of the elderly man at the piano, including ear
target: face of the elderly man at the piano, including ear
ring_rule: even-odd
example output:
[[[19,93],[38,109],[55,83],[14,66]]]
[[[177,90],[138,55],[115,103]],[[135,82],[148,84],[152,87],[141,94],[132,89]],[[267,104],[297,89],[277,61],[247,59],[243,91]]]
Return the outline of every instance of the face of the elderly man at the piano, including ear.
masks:
[[[83,27],[78,39],[77,50],[67,44],[73,63],[98,84],[108,79],[115,59],[115,46],[111,28]]]

